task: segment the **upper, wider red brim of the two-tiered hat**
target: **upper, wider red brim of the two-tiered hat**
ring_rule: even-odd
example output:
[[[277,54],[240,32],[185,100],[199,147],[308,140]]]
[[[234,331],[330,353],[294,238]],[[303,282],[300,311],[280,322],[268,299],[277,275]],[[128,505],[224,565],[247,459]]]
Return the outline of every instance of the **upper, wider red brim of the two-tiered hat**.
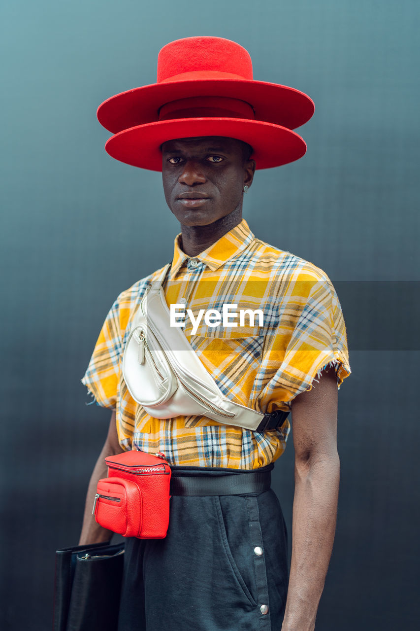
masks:
[[[197,79],[153,83],[121,92],[101,103],[96,115],[105,129],[116,134],[156,121],[165,103],[211,96],[243,100],[254,108],[255,119],[288,129],[305,124],[315,110],[312,98],[289,86],[247,79]]]

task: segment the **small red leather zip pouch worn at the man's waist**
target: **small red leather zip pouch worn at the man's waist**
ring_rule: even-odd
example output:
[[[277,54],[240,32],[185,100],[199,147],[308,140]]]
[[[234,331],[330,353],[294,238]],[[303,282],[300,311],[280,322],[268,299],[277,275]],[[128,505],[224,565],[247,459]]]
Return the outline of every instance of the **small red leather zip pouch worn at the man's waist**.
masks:
[[[98,481],[92,510],[96,522],[124,537],[165,538],[172,473],[165,458],[125,451],[105,462],[108,477]]]

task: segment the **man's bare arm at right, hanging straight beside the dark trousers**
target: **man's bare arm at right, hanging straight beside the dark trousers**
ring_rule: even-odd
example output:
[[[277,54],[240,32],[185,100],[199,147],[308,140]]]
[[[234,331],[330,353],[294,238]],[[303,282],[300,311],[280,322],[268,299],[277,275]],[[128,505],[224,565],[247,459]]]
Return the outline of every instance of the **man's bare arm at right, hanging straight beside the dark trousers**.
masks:
[[[292,556],[282,631],[313,631],[337,518],[337,379],[331,367],[291,405],[295,445]]]

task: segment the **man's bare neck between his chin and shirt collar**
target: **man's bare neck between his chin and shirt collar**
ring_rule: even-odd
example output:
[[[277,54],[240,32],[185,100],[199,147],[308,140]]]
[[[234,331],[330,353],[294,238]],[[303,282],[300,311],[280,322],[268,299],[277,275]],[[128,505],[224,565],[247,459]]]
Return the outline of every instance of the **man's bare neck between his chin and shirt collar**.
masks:
[[[242,208],[236,208],[230,215],[226,215],[207,226],[184,226],[181,224],[181,248],[188,256],[197,256],[207,247],[218,241],[242,221]]]

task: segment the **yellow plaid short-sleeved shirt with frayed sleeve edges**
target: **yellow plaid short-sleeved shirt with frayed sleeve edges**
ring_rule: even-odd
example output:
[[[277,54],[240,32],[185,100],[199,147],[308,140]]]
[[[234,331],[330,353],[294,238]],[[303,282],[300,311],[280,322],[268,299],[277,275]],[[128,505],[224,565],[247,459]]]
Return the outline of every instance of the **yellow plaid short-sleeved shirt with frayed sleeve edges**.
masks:
[[[180,330],[226,397],[261,412],[290,410],[295,396],[311,389],[328,364],[341,386],[351,373],[346,326],[322,269],[255,239],[245,220],[199,256],[187,256],[179,244],[180,235],[165,283],[168,306],[185,304],[195,318],[201,309],[222,312],[224,304],[264,314],[262,326],[258,317],[240,322],[232,316],[237,326],[231,328],[208,326],[202,318],[194,332],[185,317]],[[96,403],[116,411],[124,449],[162,451],[171,464],[185,466],[256,469],[275,461],[286,448],[288,419],[265,433],[205,416],[161,420],[131,398],[122,377],[124,347],[146,286],[162,269],[117,297],[82,383]]]

